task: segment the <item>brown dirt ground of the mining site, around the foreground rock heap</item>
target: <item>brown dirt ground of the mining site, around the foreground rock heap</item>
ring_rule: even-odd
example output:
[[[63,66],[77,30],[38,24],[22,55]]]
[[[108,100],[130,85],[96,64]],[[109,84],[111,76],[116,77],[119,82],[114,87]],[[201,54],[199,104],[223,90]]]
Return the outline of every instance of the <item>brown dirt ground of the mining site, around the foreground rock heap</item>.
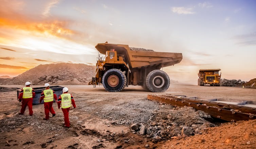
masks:
[[[1,87],[21,88],[23,86]],[[151,137],[132,133],[130,130],[133,123],[150,125],[149,122],[152,123],[154,119],[158,119],[161,115],[159,113],[168,114],[173,111],[173,107],[169,105],[147,100],[148,94],[256,101],[255,89],[171,84],[164,93],[147,92],[140,86],[129,86],[122,92],[110,93],[106,92],[102,86],[66,87],[74,96],[77,106],[76,109],[70,110],[71,128],[69,129],[62,127],[63,113],[57,109],[56,103],[54,103],[56,116],[45,121],[43,104],[33,105],[33,116],[29,116],[28,108],[24,115],[18,115],[21,104],[17,101],[17,93],[12,90],[0,92],[1,148],[256,148],[256,120],[236,123],[212,122],[216,127],[207,127],[196,135],[185,138],[172,137],[157,142],[152,141]],[[184,112],[186,107],[181,109]]]

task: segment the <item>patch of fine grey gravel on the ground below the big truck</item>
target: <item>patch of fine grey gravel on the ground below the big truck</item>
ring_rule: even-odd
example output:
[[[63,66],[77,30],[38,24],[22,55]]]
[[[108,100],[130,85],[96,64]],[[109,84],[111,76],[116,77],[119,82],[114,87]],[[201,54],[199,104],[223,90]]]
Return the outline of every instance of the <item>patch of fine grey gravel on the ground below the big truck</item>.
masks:
[[[132,123],[147,123],[154,115],[154,110],[158,109],[159,104],[157,102],[141,98],[132,101],[115,101],[111,105],[86,106],[79,110],[95,114],[100,118],[110,119],[112,124],[129,125]]]

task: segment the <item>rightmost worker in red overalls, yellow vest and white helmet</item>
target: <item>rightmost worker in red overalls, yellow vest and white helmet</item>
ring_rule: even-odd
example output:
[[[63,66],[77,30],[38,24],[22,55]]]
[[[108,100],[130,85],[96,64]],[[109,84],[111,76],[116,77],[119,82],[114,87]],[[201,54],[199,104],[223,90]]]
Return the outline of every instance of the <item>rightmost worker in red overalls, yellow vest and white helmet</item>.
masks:
[[[58,99],[58,108],[60,108],[61,104],[61,110],[64,114],[64,121],[65,121],[65,126],[66,128],[70,127],[70,122],[69,122],[69,109],[71,107],[71,103],[74,108],[76,108],[75,100],[71,94],[68,93],[69,89],[68,88],[63,88],[61,94]]]

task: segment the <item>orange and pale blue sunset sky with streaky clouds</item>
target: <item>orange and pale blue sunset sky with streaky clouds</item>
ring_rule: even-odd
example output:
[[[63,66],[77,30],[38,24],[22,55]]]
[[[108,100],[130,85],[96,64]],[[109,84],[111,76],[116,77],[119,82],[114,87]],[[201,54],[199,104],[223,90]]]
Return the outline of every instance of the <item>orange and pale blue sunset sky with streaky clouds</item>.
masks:
[[[163,68],[197,83],[199,69],[256,78],[255,0],[0,0],[0,76],[39,64],[96,63],[97,43],[183,54]]]

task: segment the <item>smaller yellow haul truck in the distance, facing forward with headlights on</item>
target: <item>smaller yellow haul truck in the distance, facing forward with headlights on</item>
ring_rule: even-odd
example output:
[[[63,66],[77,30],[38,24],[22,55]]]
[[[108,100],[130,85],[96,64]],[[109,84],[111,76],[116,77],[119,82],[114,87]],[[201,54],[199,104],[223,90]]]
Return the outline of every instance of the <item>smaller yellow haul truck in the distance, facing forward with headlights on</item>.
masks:
[[[198,73],[198,85],[220,86],[220,69],[200,69]]]

